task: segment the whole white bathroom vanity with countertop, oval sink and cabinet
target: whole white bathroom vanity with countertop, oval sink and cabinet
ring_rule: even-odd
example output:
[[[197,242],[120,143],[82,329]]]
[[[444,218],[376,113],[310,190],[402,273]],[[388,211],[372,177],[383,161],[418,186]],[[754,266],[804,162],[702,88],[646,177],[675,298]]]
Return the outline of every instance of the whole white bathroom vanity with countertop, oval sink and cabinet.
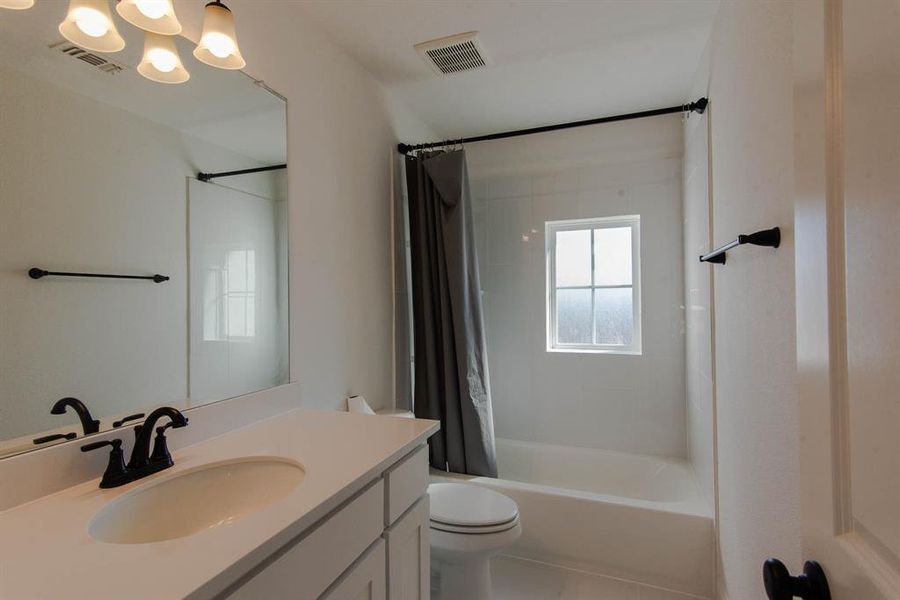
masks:
[[[0,513],[0,596],[428,598],[437,427],[296,409],[139,481],[14,507]]]

